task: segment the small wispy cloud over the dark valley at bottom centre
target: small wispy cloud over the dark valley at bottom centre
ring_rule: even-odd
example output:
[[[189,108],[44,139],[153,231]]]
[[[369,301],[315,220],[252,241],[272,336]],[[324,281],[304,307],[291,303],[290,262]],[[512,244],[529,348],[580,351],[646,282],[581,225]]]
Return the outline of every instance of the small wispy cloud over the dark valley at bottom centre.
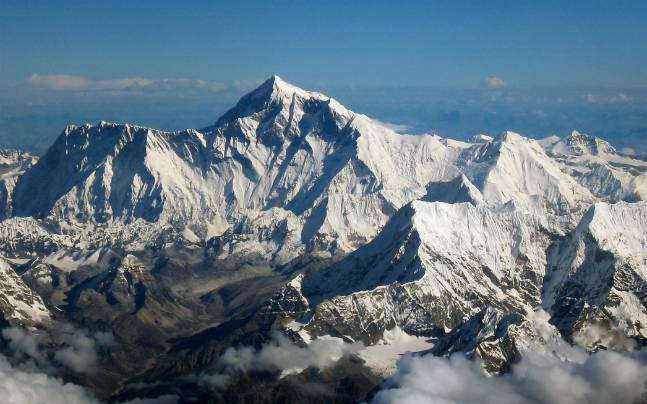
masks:
[[[309,367],[325,369],[363,347],[360,343],[347,344],[339,338],[318,338],[300,347],[284,335],[276,334],[272,342],[258,350],[252,347],[228,348],[216,363],[216,372],[202,374],[199,380],[207,386],[223,388],[238,373],[280,371],[284,376]]]

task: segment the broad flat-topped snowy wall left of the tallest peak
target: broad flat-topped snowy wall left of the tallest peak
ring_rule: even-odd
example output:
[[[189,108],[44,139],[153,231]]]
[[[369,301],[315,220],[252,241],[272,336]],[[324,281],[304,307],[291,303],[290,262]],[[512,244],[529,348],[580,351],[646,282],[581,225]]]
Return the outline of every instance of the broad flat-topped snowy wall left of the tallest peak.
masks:
[[[192,130],[166,133],[105,122],[68,127],[18,180],[15,214],[75,222],[173,222],[205,215],[209,221],[216,200],[201,173],[205,151],[202,135]]]

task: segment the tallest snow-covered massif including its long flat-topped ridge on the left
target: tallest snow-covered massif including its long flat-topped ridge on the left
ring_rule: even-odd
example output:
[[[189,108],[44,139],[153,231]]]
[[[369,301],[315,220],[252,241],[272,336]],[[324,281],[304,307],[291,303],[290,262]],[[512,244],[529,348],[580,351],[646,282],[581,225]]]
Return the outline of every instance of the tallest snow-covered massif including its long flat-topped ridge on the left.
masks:
[[[451,161],[446,149],[275,77],[203,131],[68,127],[20,178],[13,206],[53,220],[174,224],[199,238],[278,208],[273,226],[296,220],[291,212],[303,243],[328,238],[348,251],[424,194]]]

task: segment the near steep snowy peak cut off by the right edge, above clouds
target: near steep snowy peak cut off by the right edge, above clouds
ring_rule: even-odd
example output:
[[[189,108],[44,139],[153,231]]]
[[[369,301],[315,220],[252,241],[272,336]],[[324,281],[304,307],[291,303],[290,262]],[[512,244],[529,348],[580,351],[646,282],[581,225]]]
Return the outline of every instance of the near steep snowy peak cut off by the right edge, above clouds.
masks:
[[[646,226],[645,202],[598,203],[551,251],[543,303],[567,338],[591,325],[647,337]]]

